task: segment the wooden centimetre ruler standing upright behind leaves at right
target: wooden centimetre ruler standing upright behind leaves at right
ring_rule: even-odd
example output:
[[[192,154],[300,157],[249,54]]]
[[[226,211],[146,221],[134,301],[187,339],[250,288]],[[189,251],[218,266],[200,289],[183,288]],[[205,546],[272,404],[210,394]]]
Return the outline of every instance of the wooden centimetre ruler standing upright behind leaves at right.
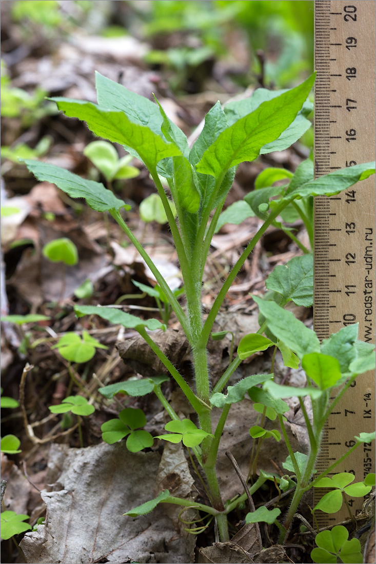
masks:
[[[315,175],[375,158],[374,0],[315,0]],[[375,181],[363,180],[337,196],[314,200],[314,329],[320,340],[359,323],[358,338],[375,342]],[[323,433],[317,472],[375,429],[375,374],[358,376],[331,413]],[[374,442],[349,456],[337,472],[362,481],[374,468]],[[316,505],[329,490],[314,488]],[[349,500],[353,513],[363,498]],[[317,512],[320,527],[348,519]]]

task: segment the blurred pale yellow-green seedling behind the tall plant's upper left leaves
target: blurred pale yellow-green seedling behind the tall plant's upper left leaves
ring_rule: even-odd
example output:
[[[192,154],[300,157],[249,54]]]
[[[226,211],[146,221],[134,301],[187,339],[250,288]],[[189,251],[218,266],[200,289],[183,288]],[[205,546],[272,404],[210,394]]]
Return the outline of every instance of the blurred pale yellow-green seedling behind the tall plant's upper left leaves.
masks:
[[[107,182],[112,180],[125,180],[135,178],[139,170],[130,166],[131,155],[119,158],[115,147],[107,141],[93,141],[84,149],[84,155],[90,159],[94,166],[103,174]]]

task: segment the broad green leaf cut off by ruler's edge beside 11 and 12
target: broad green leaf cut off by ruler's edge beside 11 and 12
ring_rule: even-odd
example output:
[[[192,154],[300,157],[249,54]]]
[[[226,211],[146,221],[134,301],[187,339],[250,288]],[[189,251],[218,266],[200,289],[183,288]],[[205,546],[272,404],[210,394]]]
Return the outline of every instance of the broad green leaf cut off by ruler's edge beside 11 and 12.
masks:
[[[284,266],[276,266],[266,279],[266,288],[282,295],[283,301],[297,306],[313,304],[313,254],[292,258]]]

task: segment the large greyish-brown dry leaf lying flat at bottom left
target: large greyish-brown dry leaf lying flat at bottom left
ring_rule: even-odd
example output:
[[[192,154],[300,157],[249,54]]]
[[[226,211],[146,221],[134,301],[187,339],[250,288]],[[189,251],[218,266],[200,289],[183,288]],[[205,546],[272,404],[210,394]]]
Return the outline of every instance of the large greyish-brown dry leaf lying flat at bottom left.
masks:
[[[191,546],[163,506],[135,519],[123,516],[154,497],[159,463],[158,453],[131,453],[124,442],[51,445],[50,478],[57,491],[42,491],[46,524],[21,541],[27,562],[191,562]]]

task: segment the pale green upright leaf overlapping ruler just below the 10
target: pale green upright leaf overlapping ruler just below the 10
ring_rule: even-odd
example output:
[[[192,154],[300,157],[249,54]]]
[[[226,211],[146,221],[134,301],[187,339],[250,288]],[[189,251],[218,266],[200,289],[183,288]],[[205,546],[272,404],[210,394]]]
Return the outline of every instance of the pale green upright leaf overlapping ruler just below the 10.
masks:
[[[329,339],[321,343],[321,352],[325,355],[334,356],[339,362],[342,374],[349,371],[349,364],[357,356],[354,346],[358,336],[358,323],[342,327],[338,333],[333,333]]]

